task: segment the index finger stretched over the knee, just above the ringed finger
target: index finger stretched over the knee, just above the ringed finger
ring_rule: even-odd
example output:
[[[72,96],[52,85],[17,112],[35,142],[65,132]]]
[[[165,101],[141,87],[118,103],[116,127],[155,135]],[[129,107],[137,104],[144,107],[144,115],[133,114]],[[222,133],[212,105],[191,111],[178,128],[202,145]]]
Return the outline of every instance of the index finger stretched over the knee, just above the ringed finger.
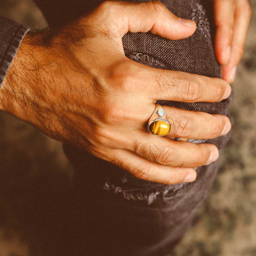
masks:
[[[218,102],[228,98],[230,85],[219,78],[188,74],[151,68],[136,63],[140,70],[134,73],[136,85],[138,80],[148,97],[154,100],[172,100],[182,102]]]

